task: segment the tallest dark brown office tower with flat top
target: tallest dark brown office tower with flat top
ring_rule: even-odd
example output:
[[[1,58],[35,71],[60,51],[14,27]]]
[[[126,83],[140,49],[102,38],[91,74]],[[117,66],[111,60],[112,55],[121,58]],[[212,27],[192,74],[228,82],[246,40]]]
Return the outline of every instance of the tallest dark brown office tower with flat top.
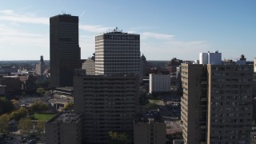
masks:
[[[50,85],[73,86],[74,69],[81,68],[78,16],[50,18]]]

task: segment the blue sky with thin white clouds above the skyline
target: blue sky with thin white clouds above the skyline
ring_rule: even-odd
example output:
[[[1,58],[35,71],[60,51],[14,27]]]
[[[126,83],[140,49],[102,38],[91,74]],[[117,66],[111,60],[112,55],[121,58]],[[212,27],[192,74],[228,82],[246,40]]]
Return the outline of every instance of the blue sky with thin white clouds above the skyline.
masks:
[[[141,34],[148,60],[256,57],[255,0],[0,0],[0,61],[50,58],[49,18],[79,16],[81,58],[94,53],[94,36],[115,26]]]

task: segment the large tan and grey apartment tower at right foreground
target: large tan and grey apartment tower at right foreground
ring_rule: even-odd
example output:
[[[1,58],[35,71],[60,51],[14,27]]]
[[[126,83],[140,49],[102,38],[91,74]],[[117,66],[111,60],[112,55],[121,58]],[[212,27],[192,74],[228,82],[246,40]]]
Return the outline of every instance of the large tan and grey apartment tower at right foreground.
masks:
[[[182,64],[184,143],[250,143],[253,66]]]

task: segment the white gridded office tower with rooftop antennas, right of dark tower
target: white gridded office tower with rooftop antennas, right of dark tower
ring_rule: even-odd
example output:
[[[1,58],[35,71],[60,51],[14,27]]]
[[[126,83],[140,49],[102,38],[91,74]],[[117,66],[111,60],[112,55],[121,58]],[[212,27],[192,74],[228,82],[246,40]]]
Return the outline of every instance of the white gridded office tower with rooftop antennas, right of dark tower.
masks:
[[[140,36],[118,28],[95,37],[96,75],[139,75]]]

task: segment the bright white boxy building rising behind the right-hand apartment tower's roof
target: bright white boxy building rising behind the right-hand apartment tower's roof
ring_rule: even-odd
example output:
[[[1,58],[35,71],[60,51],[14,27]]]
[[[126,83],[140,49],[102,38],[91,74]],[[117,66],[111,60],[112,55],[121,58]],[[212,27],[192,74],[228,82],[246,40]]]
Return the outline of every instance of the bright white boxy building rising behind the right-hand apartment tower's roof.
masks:
[[[219,53],[218,50],[215,53],[200,53],[199,54],[199,64],[222,64],[222,53]]]

